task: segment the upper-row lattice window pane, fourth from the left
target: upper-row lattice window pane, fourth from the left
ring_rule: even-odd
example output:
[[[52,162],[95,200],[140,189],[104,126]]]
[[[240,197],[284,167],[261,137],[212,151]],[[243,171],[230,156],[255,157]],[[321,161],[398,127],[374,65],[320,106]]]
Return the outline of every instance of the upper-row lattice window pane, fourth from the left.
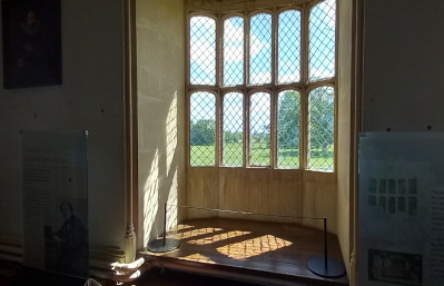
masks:
[[[300,80],[300,12],[288,10],[279,14],[278,83]]]

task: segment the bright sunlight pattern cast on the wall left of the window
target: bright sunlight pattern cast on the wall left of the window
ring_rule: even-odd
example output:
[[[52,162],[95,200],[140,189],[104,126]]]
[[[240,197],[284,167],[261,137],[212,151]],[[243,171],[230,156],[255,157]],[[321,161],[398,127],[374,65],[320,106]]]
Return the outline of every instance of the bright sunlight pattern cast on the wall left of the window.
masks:
[[[156,149],[151,168],[142,190],[144,246],[146,246],[148,241],[162,235],[165,203],[168,204],[167,228],[176,227],[178,223],[177,208],[174,207],[178,204],[179,168],[178,162],[175,161],[177,149],[177,91],[169,106],[165,126],[166,144],[165,146],[158,146]],[[160,135],[160,130],[158,135]]]

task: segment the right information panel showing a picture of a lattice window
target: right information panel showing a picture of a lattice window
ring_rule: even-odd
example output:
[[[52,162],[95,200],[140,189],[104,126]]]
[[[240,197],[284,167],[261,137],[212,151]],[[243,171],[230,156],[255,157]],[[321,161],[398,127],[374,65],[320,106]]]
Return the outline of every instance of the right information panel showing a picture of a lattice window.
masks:
[[[359,137],[358,285],[444,285],[444,134]]]

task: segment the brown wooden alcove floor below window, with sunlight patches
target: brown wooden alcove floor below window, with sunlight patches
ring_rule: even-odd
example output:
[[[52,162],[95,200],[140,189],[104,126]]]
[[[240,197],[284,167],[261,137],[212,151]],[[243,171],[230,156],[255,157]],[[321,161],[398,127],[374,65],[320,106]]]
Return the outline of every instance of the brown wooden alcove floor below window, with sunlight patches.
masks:
[[[228,218],[184,221],[169,231],[180,247],[140,255],[152,265],[265,285],[348,285],[348,278],[327,279],[307,268],[324,256],[324,233],[296,224]],[[328,235],[328,257],[342,262],[337,237]]]

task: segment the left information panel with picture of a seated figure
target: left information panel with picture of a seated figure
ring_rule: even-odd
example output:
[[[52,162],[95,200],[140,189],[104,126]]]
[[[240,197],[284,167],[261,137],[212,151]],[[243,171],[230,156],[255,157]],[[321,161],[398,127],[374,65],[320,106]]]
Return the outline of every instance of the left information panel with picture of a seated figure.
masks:
[[[88,277],[86,131],[22,131],[23,264]]]

